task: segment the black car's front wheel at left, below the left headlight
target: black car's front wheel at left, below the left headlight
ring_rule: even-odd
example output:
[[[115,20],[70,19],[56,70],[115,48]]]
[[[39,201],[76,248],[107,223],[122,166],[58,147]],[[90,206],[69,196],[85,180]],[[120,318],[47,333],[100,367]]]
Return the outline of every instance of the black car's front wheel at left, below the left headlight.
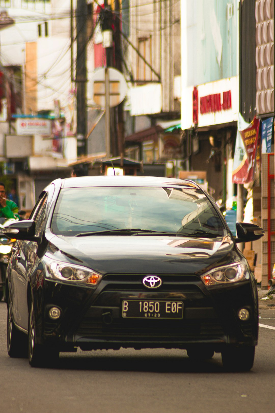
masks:
[[[28,320],[28,361],[32,367],[44,367],[52,366],[58,359],[59,350],[56,347],[35,342],[35,315],[31,302]]]

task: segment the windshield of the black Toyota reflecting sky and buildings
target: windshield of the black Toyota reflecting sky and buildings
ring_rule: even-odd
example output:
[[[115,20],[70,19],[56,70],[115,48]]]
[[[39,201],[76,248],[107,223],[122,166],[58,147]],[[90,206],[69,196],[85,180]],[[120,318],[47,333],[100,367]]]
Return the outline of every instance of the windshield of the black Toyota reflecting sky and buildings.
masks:
[[[52,218],[52,231],[57,235],[96,235],[101,231],[108,235],[154,235],[157,231],[222,236],[224,230],[204,193],[184,187],[65,188]]]

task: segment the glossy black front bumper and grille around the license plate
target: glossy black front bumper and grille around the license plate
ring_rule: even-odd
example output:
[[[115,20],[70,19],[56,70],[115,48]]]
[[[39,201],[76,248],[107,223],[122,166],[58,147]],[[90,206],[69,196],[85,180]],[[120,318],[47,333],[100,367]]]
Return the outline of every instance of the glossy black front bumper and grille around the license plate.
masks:
[[[195,276],[169,275],[162,276],[169,282],[151,291],[141,286],[140,278],[125,281],[123,275],[107,275],[96,289],[45,280],[38,340],[58,342],[61,350],[187,348],[195,343],[221,351],[225,344],[257,344],[257,296],[251,280],[207,290]],[[182,301],[183,318],[125,319],[122,299]],[[61,310],[58,320],[49,318],[52,306]],[[249,320],[238,318],[241,308],[249,311]]]

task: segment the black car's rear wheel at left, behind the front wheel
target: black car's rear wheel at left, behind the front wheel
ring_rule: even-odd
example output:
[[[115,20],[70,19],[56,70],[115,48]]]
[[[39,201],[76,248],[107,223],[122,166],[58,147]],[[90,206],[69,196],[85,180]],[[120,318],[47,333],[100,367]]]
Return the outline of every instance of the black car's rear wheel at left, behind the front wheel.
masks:
[[[9,357],[26,358],[28,355],[27,335],[19,331],[13,322],[10,300],[7,311],[7,350]]]

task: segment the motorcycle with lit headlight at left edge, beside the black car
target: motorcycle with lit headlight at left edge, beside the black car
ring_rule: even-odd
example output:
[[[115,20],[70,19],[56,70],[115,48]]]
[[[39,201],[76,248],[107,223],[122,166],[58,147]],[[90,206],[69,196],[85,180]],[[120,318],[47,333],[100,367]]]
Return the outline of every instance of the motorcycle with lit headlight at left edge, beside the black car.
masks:
[[[6,301],[6,278],[7,265],[12,255],[12,247],[16,242],[15,239],[9,239],[2,233],[2,229],[10,223],[17,221],[16,219],[0,218],[0,301],[4,297]]]

